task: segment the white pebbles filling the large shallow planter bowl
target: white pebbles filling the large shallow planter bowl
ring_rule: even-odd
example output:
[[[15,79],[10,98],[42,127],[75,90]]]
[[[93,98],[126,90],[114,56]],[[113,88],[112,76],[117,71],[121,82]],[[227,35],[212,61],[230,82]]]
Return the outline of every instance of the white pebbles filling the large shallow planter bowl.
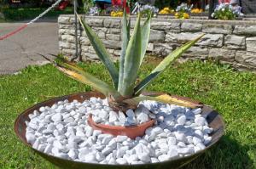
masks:
[[[150,111],[148,111],[150,110]],[[132,165],[177,159],[205,149],[212,138],[201,109],[190,110],[172,104],[144,101],[137,110],[115,113],[107,99],[91,98],[79,103],[59,101],[51,107],[41,107],[26,121],[26,140],[49,155],[99,164]],[[115,126],[142,124],[155,119],[143,137],[113,137],[93,130],[87,124],[93,120]]]

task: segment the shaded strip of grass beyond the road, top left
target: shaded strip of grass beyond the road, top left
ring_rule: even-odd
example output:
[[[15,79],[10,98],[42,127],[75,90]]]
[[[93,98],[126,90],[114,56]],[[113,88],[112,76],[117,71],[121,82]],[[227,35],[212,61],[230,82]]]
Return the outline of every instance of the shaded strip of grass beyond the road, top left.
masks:
[[[31,20],[43,13],[46,8],[7,8],[3,10],[4,20],[0,22],[12,22],[19,20]],[[58,17],[60,14],[73,14],[73,8],[68,7],[64,10],[50,10],[44,17]]]

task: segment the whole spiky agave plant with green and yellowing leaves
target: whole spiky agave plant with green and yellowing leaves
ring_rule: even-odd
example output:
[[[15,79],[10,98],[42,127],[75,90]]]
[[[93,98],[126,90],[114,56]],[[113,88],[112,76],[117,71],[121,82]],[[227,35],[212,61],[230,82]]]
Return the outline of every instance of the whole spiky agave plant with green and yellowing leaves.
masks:
[[[177,104],[191,108],[201,106],[199,104],[190,103],[189,101],[177,99],[166,93],[144,96],[142,95],[142,92],[151,82],[154,81],[156,77],[160,76],[160,74],[171,65],[174,59],[181,56],[203,35],[184,44],[181,48],[174,50],[165,59],[163,59],[160,62],[160,65],[158,65],[148,76],[146,76],[141,82],[137,82],[137,73],[140,66],[143,64],[143,59],[148,46],[151,14],[148,16],[147,20],[145,20],[143,25],[141,25],[141,16],[138,14],[133,34],[130,36],[131,20],[127,20],[127,15],[124,12],[122,20],[123,42],[119,59],[119,70],[111,60],[110,54],[108,54],[108,51],[104,47],[100,38],[96,36],[96,33],[92,31],[90,26],[87,25],[79,15],[78,18],[87,37],[90,39],[91,45],[95,49],[96,54],[106,66],[112,78],[113,86],[110,86],[108,83],[84,72],[84,70],[79,68],[78,65],[67,61],[67,59],[59,60],[57,62],[57,68],[67,76],[90,85],[98,92],[104,94],[108,98],[108,103],[113,110],[125,111],[127,109],[136,109],[137,104],[143,100],[155,100],[165,104]]]

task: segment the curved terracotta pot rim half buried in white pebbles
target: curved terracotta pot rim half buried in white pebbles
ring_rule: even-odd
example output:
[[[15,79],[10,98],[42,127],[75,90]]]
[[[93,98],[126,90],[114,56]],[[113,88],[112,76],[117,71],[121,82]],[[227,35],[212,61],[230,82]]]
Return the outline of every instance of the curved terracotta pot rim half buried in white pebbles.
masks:
[[[121,126],[110,126],[104,124],[97,124],[92,120],[91,115],[88,118],[88,124],[95,130],[101,130],[103,133],[112,134],[113,136],[125,135],[131,139],[135,139],[139,136],[143,136],[148,127],[154,125],[154,120],[144,122],[143,124],[131,127],[121,127]]]

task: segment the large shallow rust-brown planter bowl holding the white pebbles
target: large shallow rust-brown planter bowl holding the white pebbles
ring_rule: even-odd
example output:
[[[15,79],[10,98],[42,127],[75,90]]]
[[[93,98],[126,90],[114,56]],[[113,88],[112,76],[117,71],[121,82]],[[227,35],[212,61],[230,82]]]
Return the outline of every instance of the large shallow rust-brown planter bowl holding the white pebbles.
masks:
[[[68,99],[69,101],[73,101],[73,99],[77,99],[80,102],[83,102],[85,99],[90,99],[91,97],[100,97],[104,99],[104,96],[101,93],[96,92],[89,92],[89,93],[76,93],[71,94],[67,96],[63,96],[60,98],[50,99],[48,101],[44,101],[43,103],[36,104],[29,108],[28,110],[25,110],[23,113],[21,113],[18,118],[15,121],[15,133],[20,138],[20,140],[26,144],[26,146],[32,148],[31,144],[28,144],[26,142],[26,123],[25,121],[29,121],[29,114],[32,114],[34,110],[39,110],[42,106],[51,106],[52,104],[55,104],[58,101]],[[141,165],[102,165],[102,164],[90,164],[90,163],[84,163],[84,162],[78,162],[78,161],[69,161],[65,159],[61,159],[59,157],[55,157],[53,155],[47,155],[43,152],[38,151],[37,149],[33,149],[36,153],[43,156],[47,161],[50,161],[51,163],[55,164],[56,166],[60,166],[61,168],[69,168],[69,169],[111,169],[111,168],[137,168],[137,169],[148,169],[148,168],[178,168],[181,166],[184,166],[188,164],[190,161],[195,160],[198,156],[202,155],[205,151],[210,149],[214,144],[217,144],[219,138],[221,138],[224,134],[224,121],[220,115],[218,115],[218,112],[215,110],[212,110],[208,106],[203,106],[202,108],[202,114],[207,116],[207,121],[209,123],[209,127],[213,128],[213,132],[210,136],[212,136],[212,142],[211,144],[207,145],[207,148],[204,150],[201,150],[194,155],[189,155],[183,158],[178,158],[176,160],[171,161],[164,161],[154,164],[141,164]]]

